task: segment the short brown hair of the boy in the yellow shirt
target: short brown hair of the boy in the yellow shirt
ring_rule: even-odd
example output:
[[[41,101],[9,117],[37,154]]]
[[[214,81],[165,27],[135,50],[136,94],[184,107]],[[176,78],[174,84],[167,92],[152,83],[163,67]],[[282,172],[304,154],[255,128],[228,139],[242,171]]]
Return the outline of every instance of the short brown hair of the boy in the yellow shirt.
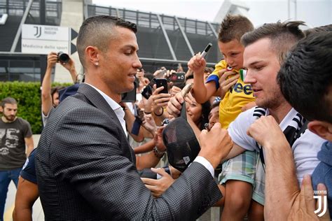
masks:
[[[254,30],[254,25],[247,17],[242,15],[226,15],[218,34],[218,41],[228,43],[233,40],[240,41],[242,35]]]

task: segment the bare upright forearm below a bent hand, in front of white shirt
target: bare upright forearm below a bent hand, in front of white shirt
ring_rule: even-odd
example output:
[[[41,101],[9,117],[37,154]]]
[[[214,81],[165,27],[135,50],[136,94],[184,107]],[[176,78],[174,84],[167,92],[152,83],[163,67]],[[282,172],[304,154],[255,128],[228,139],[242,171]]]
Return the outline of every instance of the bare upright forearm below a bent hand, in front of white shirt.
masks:
[[[294,195],[300,188],[296,178],[293,152],[289,145],[265,148],[266,220],[286,220]],[[280,192],[282,190],[282,192]]]

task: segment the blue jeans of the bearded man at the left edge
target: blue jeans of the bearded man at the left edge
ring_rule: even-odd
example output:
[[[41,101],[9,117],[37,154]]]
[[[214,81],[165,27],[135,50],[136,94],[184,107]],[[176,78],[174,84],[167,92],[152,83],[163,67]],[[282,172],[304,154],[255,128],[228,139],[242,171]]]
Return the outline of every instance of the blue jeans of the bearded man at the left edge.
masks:
[[[21,170],[22,168],[0,171],[0,220],[4,220],[4,210],[9,183],[13,180],[16,188],[18,188],[18,177],[20,176]]]

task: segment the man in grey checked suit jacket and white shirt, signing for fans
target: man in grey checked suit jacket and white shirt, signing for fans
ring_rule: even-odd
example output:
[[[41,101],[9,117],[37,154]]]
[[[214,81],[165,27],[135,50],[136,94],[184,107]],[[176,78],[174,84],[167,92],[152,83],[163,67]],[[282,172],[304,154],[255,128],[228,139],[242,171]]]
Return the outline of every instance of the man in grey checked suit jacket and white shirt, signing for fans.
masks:
[[[214,168],[232,141],[219,123],[202,131],[198,157],[162,197],[154,199],[141,182],[118,104],[141,68],[136,31],[110,16],[81,26],[85,83],[50,117],[36,153],[46,220],[194,220],[221,197]]]

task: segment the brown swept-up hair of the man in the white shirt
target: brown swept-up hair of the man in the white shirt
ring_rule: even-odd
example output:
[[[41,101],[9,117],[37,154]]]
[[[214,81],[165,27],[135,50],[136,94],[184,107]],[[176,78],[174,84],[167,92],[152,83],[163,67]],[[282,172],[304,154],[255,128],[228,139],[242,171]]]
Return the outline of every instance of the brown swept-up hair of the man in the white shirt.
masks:
[[[305,22],[280,22],[263,24],[254,31],[247,32],[241,38],[241,43],[244,47],[255,43],[263,38],[270,39],[270,47],[274,50],[278,57],[279,63],[284,62],[286,53],[305,35],[298,26]]]

